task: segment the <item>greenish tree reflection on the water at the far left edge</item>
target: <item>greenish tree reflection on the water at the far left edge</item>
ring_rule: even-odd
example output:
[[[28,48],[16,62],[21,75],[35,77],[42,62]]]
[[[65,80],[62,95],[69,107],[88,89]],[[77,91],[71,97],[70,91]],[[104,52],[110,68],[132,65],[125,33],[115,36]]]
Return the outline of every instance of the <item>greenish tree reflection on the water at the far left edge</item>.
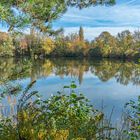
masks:
[[[13,58],[0,59],[0,83],[29,77],[30,61],[15,61]]]

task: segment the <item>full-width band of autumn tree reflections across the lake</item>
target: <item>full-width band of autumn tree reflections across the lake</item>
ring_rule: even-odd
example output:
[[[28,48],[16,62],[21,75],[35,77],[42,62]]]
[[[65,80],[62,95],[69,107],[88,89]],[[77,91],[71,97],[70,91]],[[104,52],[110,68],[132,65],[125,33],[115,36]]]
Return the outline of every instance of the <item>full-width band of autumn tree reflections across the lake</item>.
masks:
[[[115,60],[72,60],[72,59],[1,59],[0,83],[9,80],[30,77],[31,81],[51,74],[60,77],[77,78],[81,84],[85,72],[91,72],[105,82],[115,78],[117,82],[127,85],[130,82],[140,85],[140,64]]]

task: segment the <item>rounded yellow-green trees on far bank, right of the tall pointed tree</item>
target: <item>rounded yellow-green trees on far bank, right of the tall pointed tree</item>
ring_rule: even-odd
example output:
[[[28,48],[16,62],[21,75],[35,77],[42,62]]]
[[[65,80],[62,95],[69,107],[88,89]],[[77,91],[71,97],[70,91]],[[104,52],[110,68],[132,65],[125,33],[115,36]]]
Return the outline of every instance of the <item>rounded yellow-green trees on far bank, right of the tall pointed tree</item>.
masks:
[[[103,32],[91,43],[90,55],[123,59],[139,58],[138,34],[139,31],[132,34],[126,30],[114,37],[108,32]]]

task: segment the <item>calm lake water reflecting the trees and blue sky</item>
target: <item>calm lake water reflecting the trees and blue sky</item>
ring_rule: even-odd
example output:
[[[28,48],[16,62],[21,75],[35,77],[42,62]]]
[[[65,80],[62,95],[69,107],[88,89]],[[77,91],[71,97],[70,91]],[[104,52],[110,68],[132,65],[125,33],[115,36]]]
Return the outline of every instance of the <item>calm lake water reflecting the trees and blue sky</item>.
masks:
[[[0,59],[0,84],[20,84],[25,88],[36,80],[33,90],[49,98],[71,81],[77,93],[83,93],[90,103],[112,120],[120,121],[124,105],[140,95],[140,63],[95,59]],[[0,104],[1,114],[13,114],[20,95],[7,95]]]

